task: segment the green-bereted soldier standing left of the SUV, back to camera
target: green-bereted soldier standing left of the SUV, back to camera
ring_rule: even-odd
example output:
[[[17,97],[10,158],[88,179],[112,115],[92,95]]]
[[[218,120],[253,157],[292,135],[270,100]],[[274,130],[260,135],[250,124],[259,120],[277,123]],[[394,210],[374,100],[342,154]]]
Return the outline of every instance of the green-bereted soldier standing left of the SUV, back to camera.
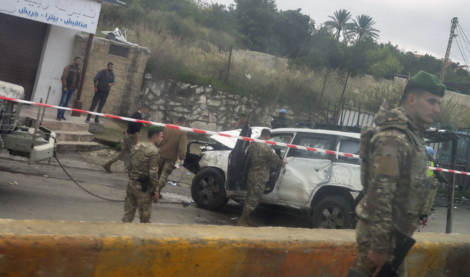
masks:
[[[159,145],[163,140],[162,128],[160,126],[150,126],[148,139],[147,142],[140,142],[135,145],[130,151],[129,182],[127,184],[122,222],[133,222],[135,210],[139,210],[140,223],[149,223],[152,212],[152,199],[154,201],[159,200],[159,194],[155,191],[161,189],[157,178],[159,171],[157,163],[160,157]],[[139,175],[149,177],[147,191],[142,191],[142,185],[137,181]]]

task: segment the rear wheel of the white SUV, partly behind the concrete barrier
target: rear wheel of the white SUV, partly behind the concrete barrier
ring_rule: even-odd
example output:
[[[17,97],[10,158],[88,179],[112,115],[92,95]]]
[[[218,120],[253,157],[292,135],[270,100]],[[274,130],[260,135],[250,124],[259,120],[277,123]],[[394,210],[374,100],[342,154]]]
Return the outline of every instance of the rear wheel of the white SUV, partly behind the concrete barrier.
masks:
[[[314,228],[351,229],[353,208],[342,196],[327,196],[314,208]]]

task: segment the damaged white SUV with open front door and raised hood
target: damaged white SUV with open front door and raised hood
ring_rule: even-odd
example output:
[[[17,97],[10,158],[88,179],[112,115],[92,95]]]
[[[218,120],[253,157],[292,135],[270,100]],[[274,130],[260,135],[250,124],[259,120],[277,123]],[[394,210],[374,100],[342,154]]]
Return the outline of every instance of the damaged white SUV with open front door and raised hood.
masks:
[[[247,124],[240,135],[257,137],[260,130]],[[360,136],[357,128],[323,126],[274,129],[270,140],[358,154]],[[199,207],[207,209],[220,208],[229,199],[243,201],[248,175],[246,147],[249,142],[220,136],[212,138],[217,142],[189,142],[184,161],[184,167],[196,174],[191,186],[192,198]],[[201,154],[190,153],[192,144],[203,145]],[[354,198],[362,189],[358,158],[271,147],[286,163],[271,168],[260,203],[307,210],[316,228],[353,227]]]

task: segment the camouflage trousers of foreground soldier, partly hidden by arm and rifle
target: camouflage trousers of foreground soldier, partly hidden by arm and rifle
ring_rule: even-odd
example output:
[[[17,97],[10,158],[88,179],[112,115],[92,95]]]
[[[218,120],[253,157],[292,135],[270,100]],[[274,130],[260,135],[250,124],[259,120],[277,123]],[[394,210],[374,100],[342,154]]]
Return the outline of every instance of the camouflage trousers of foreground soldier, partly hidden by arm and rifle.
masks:
[[[370,250],[370,226],[368,222],[363,219],[359,219],[356,224],[356,242],[358,244],[356,262],[354,263],[353,268],[361,271],[367,276],[372,276],[372,273],[375,271],[375,266],[370,262],[370,259],[367,257]],[[389,245],[389,253],[394,249],[395,243],[392,239]],[[394,255],[389,254],[387,257],[387,262],[391,263],[393,261]],[[400,267],[397,271],[398,276],[406,276],[406,260],[403,260]]]

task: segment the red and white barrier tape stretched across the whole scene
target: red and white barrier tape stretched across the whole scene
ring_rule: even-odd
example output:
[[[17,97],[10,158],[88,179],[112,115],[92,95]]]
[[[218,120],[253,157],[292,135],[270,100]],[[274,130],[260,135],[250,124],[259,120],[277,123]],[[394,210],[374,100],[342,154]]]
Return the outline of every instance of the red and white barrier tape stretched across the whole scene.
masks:
[[[72,109],[72,108],[67,108],[67,107],[59,107],[59,106],[55,106],[55,105],[51,105],[51,104],[42,104],[42,103],[31,102],[31,101],[27,101],[27,100],[19,100],[19,99],[15,99],[15,98],[4,97],[4,96],[0,96],[0,100],[8,100],[8,101],[19,102],[19,103],[24,103],[24,104],[33,104],[33,105],[36,105],[36,106],[49,107],[49,108],[54,108],[54,109],[65,109],[67,111],[80,112],[82,114],[93,114],[95,116],[105,116],[105,117],[109,117],[111,119],[120,119],[120,120],[123,120],[123,121],[133,121],[133,122],[145,123],[145,124],[149,124],[149,125],[156,125],[156,126],[162,126],[162,127],[167,127],[167,128],[180,129],[180,130],[185,130],[185,131],[188,131],[188,132],[194,132],[194,133],[200,133],[200,134],[206,134],[206,135],[220,135],[222,137],[232,137],[232,138],[235,138],[237,140],[248,140],[249,142],[264,142],[266,144],[278,145],[278,146],[282,146],[282,147],[290,147],[290,148],[302,149],[302,150],[307,150],[307,151],[316,151],[316,152],[320,152],[320,153],[326,153],[326,154],[332,154],[332,155],[338,155],[338,156],[347,156],[347,157],[350,157],[350,158],[359,158],[359,155],[357,155],[357,154],[349,154],[349,153],[343,153],[343,152],[332,151],[332,150],[325,150],[325,149],[314,148],[314,147],[304,147],[304,146],[301,146],[301,145],[288,144],[288,143],[283,143],[283,142],[271,142],[270,140],[259,140],[259,139],[254,139],[252,137],[241,137],[239,135],[227,135],[227,134],[217,133],[217,132],[208,131],[208,130],[188,128],[188,127],[182,127],[182,126],[177,126],[177,125],[173,125],[173,124],[158,123],[158,122],[145,121],[145,120],[140,120],[140,119],[130,119],[129,117],[124,117],[124,116],[113,116],[112,114],[100,114],[98,112],[84,111],[83,109]],[[433,168],[433,167],[430,167],[430,166],[428,166],[428,168],[432,169],[432,170],[439,170],[439,171],[448,172],[448,173],[470,175],[470,173],[457,171],[457,170],[449,170],[449,169],[445,169],[445,168]]]

